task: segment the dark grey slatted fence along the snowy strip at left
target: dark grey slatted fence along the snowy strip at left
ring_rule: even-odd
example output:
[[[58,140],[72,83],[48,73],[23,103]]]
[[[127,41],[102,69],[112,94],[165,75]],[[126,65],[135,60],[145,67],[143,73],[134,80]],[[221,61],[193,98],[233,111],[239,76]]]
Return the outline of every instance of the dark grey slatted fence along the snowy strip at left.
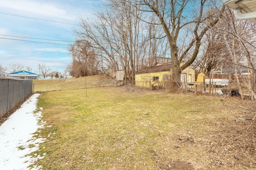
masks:
[[[32,80],[0,78],[0,119],[32,94]]]

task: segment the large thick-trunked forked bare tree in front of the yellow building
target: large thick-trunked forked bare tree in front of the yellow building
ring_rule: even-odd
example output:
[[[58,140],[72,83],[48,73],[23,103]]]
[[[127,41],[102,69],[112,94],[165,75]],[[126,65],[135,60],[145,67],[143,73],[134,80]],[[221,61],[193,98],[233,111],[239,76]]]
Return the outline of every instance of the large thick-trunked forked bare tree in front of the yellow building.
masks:
[[[204,15],[204,7],[207,6],[206,0],[189,1],[189,0],[140,0],[140,4],[147,8],[141,8],[144,12],[152,12],[158,16],[160,24],[166,33],[168,43],[170,45],[170,53],[172,59],[172,77],[176,82],[174,90],[179,88],[181,81],[181,71],[190,66],[196,59],[201,46],[202,38],[205,33],[214,26],[221,14]],[[193,18],[188,16],[191,13],[189,7],[194,6]],[[205,23],[208,24],[205,24]],[[178,47],[180,43],[180,35],[184,34],[186,26],[194,28],[190,36],[182,41],[188,42],[186,48]],[[186,59],[186,61],[185,61]],[[180,63],[184,61],[181,66]]]

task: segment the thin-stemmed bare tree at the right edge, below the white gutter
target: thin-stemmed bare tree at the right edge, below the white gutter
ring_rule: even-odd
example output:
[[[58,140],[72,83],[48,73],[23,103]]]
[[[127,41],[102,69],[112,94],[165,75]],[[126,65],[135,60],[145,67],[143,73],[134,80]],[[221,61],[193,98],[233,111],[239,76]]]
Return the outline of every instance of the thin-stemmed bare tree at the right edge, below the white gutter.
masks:
[[[222,28],[224,25],[228,25],[226,29],[219,29],[218,32],[222,35],[230,59],[232,60],[232,66],[235,68],[236,81],[239,86],[241,97],[243,98],[242,87],[245,87],[250,91],[252,97],[256,99],[255,93],[255,59],[252,57],[252,53],[256,47],[253,45],[255,42],[255,25],[250,21],[241,21],[234,18],[232,10],[227,8],[223,12],[223,17],[220,20]],[[227,29],[228,28],[228,29]],[[228,37],[231,37],[229,41]],[[251,50],[249,50],[251,49]],[[250,52],[252,51],[252,52]],[[247,76],[242,74],[240,66],[248,68]],[[243,84],[241,84],[238,74],[242,77]]]

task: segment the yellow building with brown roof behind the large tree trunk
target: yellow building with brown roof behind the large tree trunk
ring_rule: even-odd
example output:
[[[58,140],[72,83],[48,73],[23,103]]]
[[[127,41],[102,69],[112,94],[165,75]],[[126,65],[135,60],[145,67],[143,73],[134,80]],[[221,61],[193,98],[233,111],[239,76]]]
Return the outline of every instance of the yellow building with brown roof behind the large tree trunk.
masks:
[[[182,63],[183,64],[183,63]],[[164,64],[139,70],[135,73],[135,84],[140,87],[163,87],[164,82],[172,80],[172,64]],[[195,82],[195,71],[188,66],[181,72],[182,86]]]

